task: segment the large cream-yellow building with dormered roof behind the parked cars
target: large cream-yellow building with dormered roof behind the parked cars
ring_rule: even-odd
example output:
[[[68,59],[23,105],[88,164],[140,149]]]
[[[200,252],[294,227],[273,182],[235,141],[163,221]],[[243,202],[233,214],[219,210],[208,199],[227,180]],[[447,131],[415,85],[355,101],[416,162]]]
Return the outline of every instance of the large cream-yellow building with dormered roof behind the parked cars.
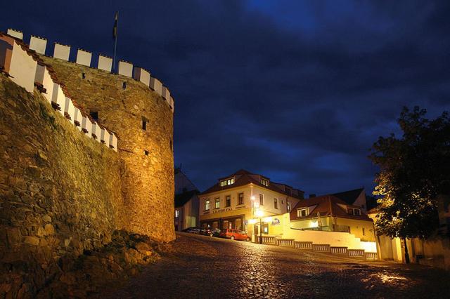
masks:
[[[304,192],[285,184],[272,182],[264,175],[240,170],[220,178],[200,194],[200,225],[212,228],[233,228],[254,234],[248,222],[264,216],[288,213],[303,199]],[[268,223],[264,223],[268,232]]]

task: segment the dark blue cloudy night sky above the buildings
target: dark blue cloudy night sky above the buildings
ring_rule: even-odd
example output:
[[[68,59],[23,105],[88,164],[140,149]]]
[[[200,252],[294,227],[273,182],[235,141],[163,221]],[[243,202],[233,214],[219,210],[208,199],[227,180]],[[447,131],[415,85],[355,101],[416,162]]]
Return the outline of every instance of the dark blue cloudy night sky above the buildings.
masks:
[[[373,188],[401,107],[450,109],[450,1],[3,1],[20,29],[150,69],[175,100],[176,165],[200,190],[240,168],[307,194]]]

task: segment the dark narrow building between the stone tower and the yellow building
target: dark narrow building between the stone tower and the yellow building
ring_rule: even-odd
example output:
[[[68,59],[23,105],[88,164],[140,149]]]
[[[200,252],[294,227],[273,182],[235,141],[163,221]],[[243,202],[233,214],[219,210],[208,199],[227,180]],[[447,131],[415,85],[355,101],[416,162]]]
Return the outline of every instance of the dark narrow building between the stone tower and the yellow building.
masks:
[[[180,168],[175,168],[175,230],[198,226],[199,199],[197,187]]]

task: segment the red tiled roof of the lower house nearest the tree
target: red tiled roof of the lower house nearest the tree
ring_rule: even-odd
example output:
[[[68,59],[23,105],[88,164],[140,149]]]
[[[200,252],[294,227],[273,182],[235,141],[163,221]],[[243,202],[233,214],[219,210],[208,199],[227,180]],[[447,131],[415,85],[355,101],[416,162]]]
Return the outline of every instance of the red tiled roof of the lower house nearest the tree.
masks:
[[[361,211],[361,215],[350,215],[345,211],[339,204],[346,206],[347,208],[358,208]],[[308,208],[311,206],[316,206],[312,211],[309,211],[309,215],[306,217],[297,217],[297,209]],[[352,218],[358,220],[371,221],[370,218],[361,210],[360,206],[354,206],[352,204],[347,204],[345,201],[338,199],[334,195],[322,195],[320,197],[313,197],[311,199],[304,199],[299,201],[299,203],[290,211],[290,220],[297,219],[307,219],[316,218],[317,213],[321,216],[337,216],[341,218]]]

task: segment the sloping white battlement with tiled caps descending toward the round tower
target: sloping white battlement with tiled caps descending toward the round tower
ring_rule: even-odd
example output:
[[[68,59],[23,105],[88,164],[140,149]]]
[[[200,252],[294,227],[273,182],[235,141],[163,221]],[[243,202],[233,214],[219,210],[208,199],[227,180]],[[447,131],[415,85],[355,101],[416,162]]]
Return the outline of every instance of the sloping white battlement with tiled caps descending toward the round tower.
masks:
[[[46,65],[35,51],[32,51],[20,38],[1,32],[0,69],[8,74],[8,77],[11,77],[15,84],[22,86],[30,93],[34,91],[34,86],[36,86],[53,109],[63,114],[63,117],[77,126],[79,131],[117,152],[117,135],[96,123],[77,104],[68,93],[63,82],[56,77],[53,68]]]

